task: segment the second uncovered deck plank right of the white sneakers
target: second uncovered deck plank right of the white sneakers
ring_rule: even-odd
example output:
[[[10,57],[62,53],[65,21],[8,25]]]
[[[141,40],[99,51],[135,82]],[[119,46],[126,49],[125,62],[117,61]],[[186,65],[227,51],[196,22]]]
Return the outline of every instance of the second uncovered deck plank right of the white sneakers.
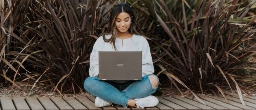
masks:
[[[173,97],[163,97],[164,99],[167,99],[168,101],[171,101],[177,105],[183,106],[184,108],[187,108],[188,110],[201,110],[200,108],[190,105],[188,103],[185,103],[183,101],[180,101],[178,99],[175,99]]]

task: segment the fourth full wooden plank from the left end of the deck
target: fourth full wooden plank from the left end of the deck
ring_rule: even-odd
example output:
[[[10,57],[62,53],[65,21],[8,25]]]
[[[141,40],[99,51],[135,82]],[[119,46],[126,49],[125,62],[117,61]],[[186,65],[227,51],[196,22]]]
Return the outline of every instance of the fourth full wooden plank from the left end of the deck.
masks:
[[[50,100],[49,97],[37,97],[38,101],[43,105],[45,110],[59,110],[57,106]]]

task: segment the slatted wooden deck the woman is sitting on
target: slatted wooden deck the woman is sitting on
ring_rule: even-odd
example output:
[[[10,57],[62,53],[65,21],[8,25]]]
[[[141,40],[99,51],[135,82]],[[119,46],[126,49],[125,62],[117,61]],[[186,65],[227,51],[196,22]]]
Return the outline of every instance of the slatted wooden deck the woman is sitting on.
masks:
[[[159,104],[153,108],[123,108],[119,105],[96,108],[95,97],[0,97],[0,110],[256,110],[256,97],[205,96],[203,105],[195,98],[158,97]]]

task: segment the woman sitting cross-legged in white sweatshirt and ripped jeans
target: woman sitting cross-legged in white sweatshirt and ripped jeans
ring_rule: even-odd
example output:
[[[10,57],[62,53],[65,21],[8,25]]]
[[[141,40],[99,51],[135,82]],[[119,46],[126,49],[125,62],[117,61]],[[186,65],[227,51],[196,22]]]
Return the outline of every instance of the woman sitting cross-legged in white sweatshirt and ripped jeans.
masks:
[[[154,66],[150,48],[145,37],[135,31],[132,8],[128,4],[117,4],[111,11],[107,32],[99,37],[90,56],[90,69],[84,88],[96,96],[95,106],[112,103],[124,107],[154,107],[158,99],[151,94],[158,88],[158,77],[153,75]],[[100,81],[98,79],[98,51],[142,51],[141,81]]]

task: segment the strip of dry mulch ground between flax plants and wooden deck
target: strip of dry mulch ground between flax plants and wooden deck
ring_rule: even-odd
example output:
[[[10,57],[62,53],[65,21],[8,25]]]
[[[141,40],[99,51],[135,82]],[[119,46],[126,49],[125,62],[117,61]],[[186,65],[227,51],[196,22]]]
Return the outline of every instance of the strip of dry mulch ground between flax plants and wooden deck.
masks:
[[[0,97],[76,97],[76,96],[88,96],[89,94],[85,91],[81,91],[78,94],[59,94],[58,92],[52,92],[53,88],[52,86],[35,86],[32,89],[32,85],[22,85],[20,86],[21,89],[17,88],[16,86],[9,86],[4,87],[0,85]],[[32,90],[31,90],[32,89]],[[158,87],[158,91],[154,93],[155,96],[185,96],[185,95],[193,95],[189,90],[180,89],[181,92],[175,88],[175,86],[166,86],[164,84],[160,85]],[[234,88],[233,92],[229,89],[223,90],[225,95],[236,95],[237,91]],[[195,92],[196,94],[201,94],[200,92]],[[206,94],[205,95],[221,95],[220,92],[215,92],[216,94]],[[242,91],[242,95],[250,95],[250,96],[256,96],[256,89],[255,90],[247,90]]]

